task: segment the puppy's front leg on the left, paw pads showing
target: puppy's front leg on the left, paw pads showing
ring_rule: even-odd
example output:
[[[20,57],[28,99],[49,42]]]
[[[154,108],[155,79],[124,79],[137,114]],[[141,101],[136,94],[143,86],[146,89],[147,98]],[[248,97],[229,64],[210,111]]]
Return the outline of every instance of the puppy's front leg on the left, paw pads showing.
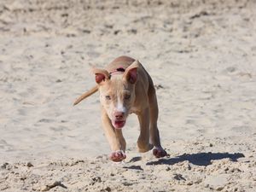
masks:
[[[112,153],[109,155],[109,159],[119,162],[125,160],[125,138],[121,129],[115,129],[111,124],[111,120],[108,118],[108,114],[102,108],[102,126],[105,131],[105,135],[108,139],[108,143],[112,150]]]

